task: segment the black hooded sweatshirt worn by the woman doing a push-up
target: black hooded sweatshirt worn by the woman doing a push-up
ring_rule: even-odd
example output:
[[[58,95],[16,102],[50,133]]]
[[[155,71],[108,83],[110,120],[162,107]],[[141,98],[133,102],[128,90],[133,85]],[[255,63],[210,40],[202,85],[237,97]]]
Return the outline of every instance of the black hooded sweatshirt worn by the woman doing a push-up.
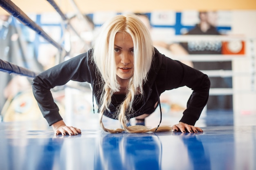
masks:
[[[50,90],[55,86],[64,85],[70,80],[90,83],[96,102],[100,105],[103,82],[96,72],[96,65],[92,60],[92,49],[49,68],[34,78],[32,82],[34,97],[43,117],[50,126],[62,120]],[[208,76],[179,61],[166,57],[155,49],[148,80],[143,86],[144,95],[141,100],[133,104],[134,110],[128,119],[144,113],[153,113],[155,104],[157,102],[159,104],[161,93],[182,86],[188,86],[193,92],[188,99],[187,108],[184,110],[180,121],[195,125],[209,97],[210,80]],[[122,99],[124,97],[121,97]],[[116,119],[116,106],[122,102],[119,100],[120,97],[117,96],[115,99],[112,98],[110,112],[106,110],[104,115]]]

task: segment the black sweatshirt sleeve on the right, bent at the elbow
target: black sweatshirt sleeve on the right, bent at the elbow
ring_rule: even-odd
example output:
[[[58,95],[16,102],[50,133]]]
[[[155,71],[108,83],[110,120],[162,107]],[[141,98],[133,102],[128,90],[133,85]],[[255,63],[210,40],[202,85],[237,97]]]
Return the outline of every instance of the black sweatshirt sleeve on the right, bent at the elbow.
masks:
[[[164,60],[166,60],[163,63],[165,63],[164,65],[167,70],[165,74],[165,80],[167,80],[165,89],[170,90],[187,86],[193,91],[180,121],[189,125],[195,125],[208,101],[211,85],[209,77],[201,71],[179,61],[168,57],[164,57]]]

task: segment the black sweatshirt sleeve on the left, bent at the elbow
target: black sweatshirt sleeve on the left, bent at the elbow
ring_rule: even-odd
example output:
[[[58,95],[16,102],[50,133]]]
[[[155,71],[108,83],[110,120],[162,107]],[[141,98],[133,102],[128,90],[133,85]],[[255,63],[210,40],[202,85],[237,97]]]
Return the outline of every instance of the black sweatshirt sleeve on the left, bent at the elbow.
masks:
[[[32,82],[34,97],[38,102],[43,117],[45,117],[50,126],[62,120],[50,89],[64,85],[70,80],[92,83],[94,74],[91,74],[90,67],[92,65],[88,58],[89,52],[83,53],[49,68],[34,78]]]

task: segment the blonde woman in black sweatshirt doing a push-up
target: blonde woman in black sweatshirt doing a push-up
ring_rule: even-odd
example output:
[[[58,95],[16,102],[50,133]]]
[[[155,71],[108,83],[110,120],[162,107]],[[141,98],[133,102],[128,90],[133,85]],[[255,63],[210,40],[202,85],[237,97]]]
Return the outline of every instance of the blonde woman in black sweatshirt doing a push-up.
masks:
[[[66,126],[51,88],[69,80],[88,82],[99,106],[103,130],[117,132],[202,132],[195,127],[209,97],[207,75],[179,61],[171,60],[153,47],[150,33],[136,15],[117,15],[103,24],[92,49],[44,71],[32,82],[38,106],[56,135],[77,135],[79,128]],[[193,90],[178,124],[159,126],[162,120],[159,96],[166,90],[188,86]],[[144,119],[160,106],[161,119],[156,128],[144,125]],[[122,128],[108,129],[103,115],[119,119]],[[129,126],[135,117],[137,124]],[[141,125],[142,124],[142,125]]]

